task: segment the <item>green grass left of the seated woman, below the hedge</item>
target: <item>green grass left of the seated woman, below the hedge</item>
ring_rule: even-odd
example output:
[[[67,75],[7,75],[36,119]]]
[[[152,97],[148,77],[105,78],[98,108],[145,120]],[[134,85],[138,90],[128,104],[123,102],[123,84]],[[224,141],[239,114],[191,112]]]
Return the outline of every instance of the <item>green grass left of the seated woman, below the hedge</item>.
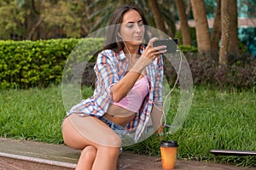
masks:
[[[16,139],[62,143],[65,116],[61,88],[0,91],[0,134]]]

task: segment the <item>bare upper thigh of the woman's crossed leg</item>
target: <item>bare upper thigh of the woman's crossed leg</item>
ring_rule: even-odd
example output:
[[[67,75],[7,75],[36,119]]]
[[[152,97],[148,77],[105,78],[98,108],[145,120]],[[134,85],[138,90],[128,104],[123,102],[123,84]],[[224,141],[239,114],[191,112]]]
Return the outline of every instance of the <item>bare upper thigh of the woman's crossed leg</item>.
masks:
[[[120,147],[121,139],[104,122],[94,116],[72,114],[62,123],[65,144],[74,149],[84,149],[87,145]]]

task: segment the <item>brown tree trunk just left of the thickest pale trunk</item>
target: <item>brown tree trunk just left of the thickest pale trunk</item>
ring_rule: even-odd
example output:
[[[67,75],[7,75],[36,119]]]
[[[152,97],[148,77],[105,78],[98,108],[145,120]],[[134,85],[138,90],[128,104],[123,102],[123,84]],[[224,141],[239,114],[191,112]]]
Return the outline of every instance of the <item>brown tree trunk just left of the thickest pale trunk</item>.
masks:
[[[176,0],[177,14],[180,22],[180,29],[183,36],[183,45],[191,45],[188,17],[185,11],[183,0]]]

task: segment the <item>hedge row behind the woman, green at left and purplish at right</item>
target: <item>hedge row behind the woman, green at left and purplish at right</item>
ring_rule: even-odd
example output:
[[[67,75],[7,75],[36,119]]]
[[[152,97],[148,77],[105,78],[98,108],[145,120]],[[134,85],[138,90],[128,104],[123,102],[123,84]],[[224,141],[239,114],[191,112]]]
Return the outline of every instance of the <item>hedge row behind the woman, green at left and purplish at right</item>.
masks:
[[[83,85],[94,86],[93,66],[96,51],[101,50],[102,45],[102,38],[0,41],[0,89],[58,84],[68,61],[72,66],[66,72],[65,81],[73,81],[71,78],[79,71],[79,64],[88,62],[80,79]],[[256,59],[250,55],[230,56],[229,65],[219,67],[218,53],[200,55],[195,47],[179,48],[189,61],[194,85],[222,88],[253,88],[256,85]],[[176,71],[169,62],[165,63],[165,74],[169,82],[176,80]]]

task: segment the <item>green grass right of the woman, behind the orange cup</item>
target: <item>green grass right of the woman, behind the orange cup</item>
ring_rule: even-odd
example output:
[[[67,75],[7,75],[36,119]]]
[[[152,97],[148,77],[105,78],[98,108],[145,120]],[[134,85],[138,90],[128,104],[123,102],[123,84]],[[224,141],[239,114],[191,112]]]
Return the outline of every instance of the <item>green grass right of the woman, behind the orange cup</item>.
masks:
[[[176,95],[172,94],[172,96]],[[213,156],[210,150],[256,150],[256,94],[253,90],[232,92],[195,88],[189,116],[183,128],[165,139],[177,140],[178,158],[229,162],[256,166],[256,156]],[[176,100],[173,100],[175,103]],[[169,111],[176,113],[175,106]],[[171,124],[172,119],[168,120]],[[129,147],[142,154],[159,155],[157,137]]]

